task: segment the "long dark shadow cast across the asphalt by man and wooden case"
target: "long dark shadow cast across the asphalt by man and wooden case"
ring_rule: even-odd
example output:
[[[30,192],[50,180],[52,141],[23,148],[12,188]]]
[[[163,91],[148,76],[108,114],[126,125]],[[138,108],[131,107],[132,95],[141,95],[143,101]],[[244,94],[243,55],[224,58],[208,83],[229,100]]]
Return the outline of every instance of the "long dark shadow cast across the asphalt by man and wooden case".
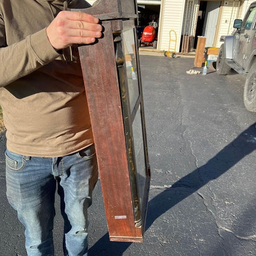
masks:
[[[181,178],[175,182],[171,188],[167,188],[151,199],[150,202],[148,202],[148,216],[145,230],[148,230],[154,220],[174,207],[178,202],[198,191],[199,188],[202,188],[202,186],[210,181],[220,177],[232,166],[241,161],[242,158],[252,153],[252,151],[256,149],[255,124],[244,130],[233,142],[225,146],[223,150],[206,164]],[[166,193],[180,187],[189,188],[189,193],[179,194],[177,197],[175,196],[175,198],[170,198],[169,193]],[[159,204],[159,202],[161,202],[161,204]],[[127,250],[130,244],[130,242],[110,242],[108,233],[106,233],[89,249],[89,252],[92,255],[119,256]]]

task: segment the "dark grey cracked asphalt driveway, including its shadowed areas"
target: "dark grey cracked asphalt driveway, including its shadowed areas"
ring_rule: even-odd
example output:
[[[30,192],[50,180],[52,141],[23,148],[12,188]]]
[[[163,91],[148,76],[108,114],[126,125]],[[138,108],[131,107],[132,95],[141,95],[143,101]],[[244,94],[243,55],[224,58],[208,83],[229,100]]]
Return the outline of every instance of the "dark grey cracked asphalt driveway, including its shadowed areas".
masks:
[[[151,189],[143,244],[110,242],[98,182],[89,210],[89,255],[256,255],[256,113],[242,102],[245,78],[186,74],[193,58],[141,55]],[[4,194],[4,137],[0,182]],[[26,255],[6,197],[0,256]],[[57,200],[58,203],[58,200]],[[54,238],[62,255],[62,219]]]

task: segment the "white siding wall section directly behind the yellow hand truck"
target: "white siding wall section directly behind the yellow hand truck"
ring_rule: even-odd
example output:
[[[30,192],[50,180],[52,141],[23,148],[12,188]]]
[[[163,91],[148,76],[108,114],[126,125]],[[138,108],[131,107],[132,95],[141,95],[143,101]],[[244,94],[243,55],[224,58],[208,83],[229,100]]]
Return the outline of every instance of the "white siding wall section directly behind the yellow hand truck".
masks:
[[[169,31],[175,30],[177,33],[177,47],[178,52],[180,48],[180,38],[182,36],[182,22],[184,14],[185,0],[165,0],[162,1],[162,21],[160,28],[160,46],[159,50],[169,49]],[[174,39],[174,38],[172,38]],[[174,48],[174,45],[171,45]]]

